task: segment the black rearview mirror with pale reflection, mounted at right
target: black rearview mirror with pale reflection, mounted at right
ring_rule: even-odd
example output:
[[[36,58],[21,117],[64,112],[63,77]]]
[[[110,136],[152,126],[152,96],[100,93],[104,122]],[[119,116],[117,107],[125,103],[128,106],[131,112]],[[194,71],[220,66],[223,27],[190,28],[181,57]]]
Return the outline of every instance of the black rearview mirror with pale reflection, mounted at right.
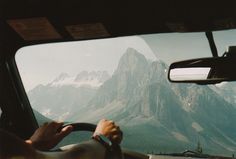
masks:
[[[236,80],[236,53],[223,57],[211,57],[175,62],[170,65],[168,78],[171,82],[215,84]]]

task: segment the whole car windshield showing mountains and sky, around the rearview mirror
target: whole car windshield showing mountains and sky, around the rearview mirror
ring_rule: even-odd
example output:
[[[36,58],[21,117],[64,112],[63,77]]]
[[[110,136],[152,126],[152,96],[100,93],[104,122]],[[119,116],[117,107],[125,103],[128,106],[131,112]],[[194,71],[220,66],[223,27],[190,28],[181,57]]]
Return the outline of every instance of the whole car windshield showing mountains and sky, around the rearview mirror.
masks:
[[[235,30],[215,32],[220,54]],[[152,34],[29,46],[16,63],[35,116],[48,120],[117,122],[122,147],[144,153],[232,156],[236,152],[234,83],[174,84],[168,66],[210,57],[204,33]],[[63,144],[75,143],[72,135]]]

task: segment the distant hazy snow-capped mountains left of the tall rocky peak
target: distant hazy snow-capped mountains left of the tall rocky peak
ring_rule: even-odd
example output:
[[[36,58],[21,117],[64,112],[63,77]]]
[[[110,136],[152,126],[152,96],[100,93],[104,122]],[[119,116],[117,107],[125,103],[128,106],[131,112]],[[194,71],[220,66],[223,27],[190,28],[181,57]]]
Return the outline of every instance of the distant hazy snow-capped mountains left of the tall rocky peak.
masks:
[[[83,71],[75,77],[62,73],[49,84],[30,90],[28,97],[32,107],[42,115],[65,120],[74,110],[82,108],[108,78],[105,71]]]

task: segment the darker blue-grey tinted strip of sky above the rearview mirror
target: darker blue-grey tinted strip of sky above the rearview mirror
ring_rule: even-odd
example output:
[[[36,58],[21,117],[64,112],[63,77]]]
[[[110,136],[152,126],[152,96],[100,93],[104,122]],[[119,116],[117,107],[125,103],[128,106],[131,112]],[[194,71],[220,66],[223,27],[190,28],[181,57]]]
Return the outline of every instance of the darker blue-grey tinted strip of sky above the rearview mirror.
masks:
[[[218,54],[221,56],[228,46],[236,45],[236,29],[213,32]],[[171,33],[141,36],[153,52],[166,63],[211,57],[205,33]]]

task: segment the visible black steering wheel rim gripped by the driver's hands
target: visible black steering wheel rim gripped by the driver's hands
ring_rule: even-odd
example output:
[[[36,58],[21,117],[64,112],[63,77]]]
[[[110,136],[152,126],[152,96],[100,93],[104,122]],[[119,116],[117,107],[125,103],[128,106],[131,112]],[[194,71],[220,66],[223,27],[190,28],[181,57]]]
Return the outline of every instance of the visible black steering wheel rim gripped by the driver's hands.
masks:
[[[97,125],[91,124],[91,123],[71,123],[71,124],[66,124],[62,128],[71,125],[73,127],[73,131],[90,131],[94,132]],[[69,145],[70,146],[70,145]],[[66,146],[65,146],[66,147]],[[63,150],[63,149],[62,149]],[[120,148],[119,144],[112,144],[112,153],[111,153],[112,159],[122,159],[123,154]],[[111,158],[109,156],[109,158]]]

